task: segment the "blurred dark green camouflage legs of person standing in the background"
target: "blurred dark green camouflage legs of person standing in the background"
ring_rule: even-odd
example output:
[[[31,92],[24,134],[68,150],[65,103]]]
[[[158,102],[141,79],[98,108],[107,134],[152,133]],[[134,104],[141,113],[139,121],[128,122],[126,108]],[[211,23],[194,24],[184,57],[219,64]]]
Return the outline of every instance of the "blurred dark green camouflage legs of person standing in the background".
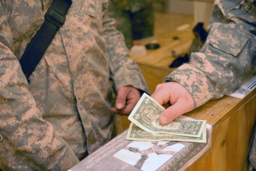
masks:
[[[153,0],[111,0],[108,14],[116,19],[116,28],[124,34],[128,48],[133,40],[153,36]]]

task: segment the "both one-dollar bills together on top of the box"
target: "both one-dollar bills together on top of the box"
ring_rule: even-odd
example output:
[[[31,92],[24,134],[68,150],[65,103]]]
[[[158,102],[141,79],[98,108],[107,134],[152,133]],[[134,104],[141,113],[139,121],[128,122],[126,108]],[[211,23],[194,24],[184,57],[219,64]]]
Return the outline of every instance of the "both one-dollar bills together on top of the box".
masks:
[[[128,117],[132,123],[126,139],[206,143],[206,120],[177,117],[162,125],[159,116],[164,110],[162,105],[144,93]]]

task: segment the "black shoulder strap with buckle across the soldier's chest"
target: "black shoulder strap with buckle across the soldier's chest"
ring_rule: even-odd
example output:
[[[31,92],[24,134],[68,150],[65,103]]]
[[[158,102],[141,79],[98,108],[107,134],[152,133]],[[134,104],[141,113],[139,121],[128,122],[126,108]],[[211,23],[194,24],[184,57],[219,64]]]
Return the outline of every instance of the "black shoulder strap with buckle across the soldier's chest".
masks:
[[[26,47],[20,59],[21,68],[28,79],[40,62],[56,32],[64,24],[72,0],[54,0],[46,12],[44,23]]]

